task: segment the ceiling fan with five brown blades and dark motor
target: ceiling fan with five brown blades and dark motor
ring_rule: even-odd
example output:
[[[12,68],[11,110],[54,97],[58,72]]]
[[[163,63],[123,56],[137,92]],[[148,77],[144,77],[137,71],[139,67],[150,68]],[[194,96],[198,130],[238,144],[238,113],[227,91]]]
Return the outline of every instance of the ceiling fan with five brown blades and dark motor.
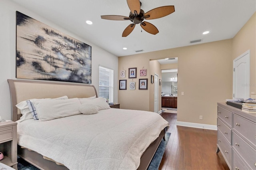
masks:
[[[101,18],[105,20],[130,20],[132,24],[124,29],[122,37],[127,37],[135,28],[135,24],[140,24],[143,30],[150,34],[156,35],[159,32],[158,29],[153,24],[150,24],[149,22],[146,22],[144,20],[161,18],[172,14],[175,11],[174,6],[161,6],[145,13],[142,9],[140,9],[140,0],[127,0],[127,4],[131,11],[129,17],[120,15],[101,16]]]

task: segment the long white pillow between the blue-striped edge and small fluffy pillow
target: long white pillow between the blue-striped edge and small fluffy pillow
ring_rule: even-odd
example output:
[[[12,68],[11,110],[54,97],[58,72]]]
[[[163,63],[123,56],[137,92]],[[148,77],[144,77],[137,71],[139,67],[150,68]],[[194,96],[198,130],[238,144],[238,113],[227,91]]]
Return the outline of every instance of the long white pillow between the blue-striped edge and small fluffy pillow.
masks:
[[[49,121],[61,117],[81,114],[79,107],[81,103],[78,98],[63,100],[37,100],[32,102],[36,108],[40,121]]]

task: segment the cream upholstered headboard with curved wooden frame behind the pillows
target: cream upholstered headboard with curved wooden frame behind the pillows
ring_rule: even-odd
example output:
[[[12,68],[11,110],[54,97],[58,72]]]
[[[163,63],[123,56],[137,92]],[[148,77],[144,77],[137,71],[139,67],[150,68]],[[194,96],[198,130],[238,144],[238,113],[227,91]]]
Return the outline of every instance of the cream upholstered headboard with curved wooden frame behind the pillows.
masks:
[[[28,99],[57,98],[65,95],[68,98],[83,98],[95,95],[98,97],[95,87],[88,84],[12,79],[8,79],[8,83],[12,101],[12,121],[17,121],[22,116],[16,105]]]

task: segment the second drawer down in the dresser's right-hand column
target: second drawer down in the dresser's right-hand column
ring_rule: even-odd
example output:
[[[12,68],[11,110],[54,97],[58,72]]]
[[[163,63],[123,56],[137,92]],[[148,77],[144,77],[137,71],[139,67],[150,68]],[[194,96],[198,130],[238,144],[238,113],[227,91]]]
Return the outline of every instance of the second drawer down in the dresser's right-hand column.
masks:
[[[256,150],[233,132],[233,149],[240,154],[251,169],[255,169]]]

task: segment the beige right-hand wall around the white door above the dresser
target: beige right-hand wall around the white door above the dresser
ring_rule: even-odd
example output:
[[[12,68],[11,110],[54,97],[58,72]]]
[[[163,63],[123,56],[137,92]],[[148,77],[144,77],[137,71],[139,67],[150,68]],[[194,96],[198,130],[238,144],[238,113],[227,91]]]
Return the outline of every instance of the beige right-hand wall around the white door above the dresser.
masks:
[[[250,94],[256,93],[256,13],[233,38],[232,59],[250,49]],[[250,95],[256,99],[256,95]]]

